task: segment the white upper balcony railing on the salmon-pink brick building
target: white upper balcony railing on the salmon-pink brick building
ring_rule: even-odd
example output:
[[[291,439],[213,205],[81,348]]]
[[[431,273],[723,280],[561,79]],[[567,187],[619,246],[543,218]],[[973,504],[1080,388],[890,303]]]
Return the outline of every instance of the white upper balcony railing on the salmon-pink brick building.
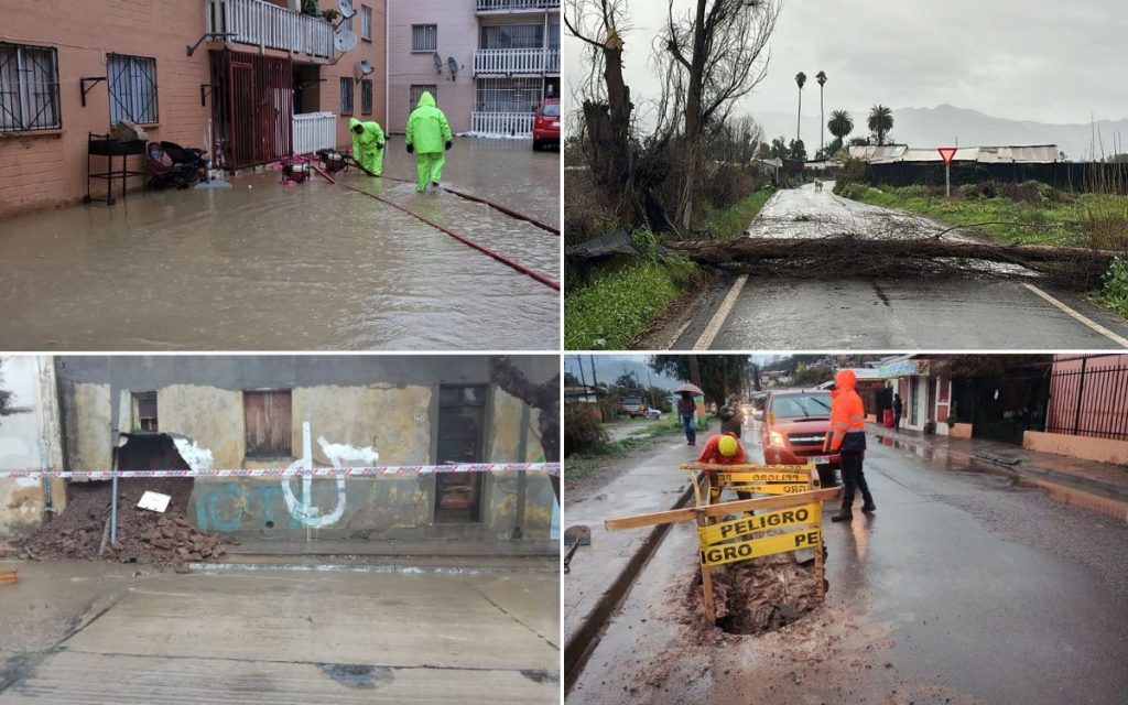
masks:
[[[209,33],[231,33],[229,42],[333,58],[333,25],[263,0],[204,0]]]

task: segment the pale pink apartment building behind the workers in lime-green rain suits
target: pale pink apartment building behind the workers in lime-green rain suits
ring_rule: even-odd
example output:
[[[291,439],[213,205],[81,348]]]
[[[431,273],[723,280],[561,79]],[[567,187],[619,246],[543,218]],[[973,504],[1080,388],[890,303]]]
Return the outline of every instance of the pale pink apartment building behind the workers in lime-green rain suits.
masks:
[[[559,0],[393,0],[389,127],[403,132],[424,90],[457,133],[528,136],[561,89]]]

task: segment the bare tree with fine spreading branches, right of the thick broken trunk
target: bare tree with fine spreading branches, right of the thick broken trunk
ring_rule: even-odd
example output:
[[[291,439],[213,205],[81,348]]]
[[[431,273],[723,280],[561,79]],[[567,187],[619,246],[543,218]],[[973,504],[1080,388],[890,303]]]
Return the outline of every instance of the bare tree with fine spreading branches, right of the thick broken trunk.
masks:
[[[706,125],[725,121],[733,104],[764,80],[781,0],[696,0],[679,14],[669,0],[667,26],[659,37],[670,67],[685,87],[685,183],[677,218],[688,228],[700,173],[700,138]]]

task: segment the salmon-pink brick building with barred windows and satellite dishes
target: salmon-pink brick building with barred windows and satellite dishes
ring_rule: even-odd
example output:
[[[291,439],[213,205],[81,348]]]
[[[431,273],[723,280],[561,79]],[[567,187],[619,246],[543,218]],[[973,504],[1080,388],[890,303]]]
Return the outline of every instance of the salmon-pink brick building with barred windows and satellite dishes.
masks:
[[[79,202],[88,135],[121,120],[230,169],[346,146],[352,115],[384,124],[386,0],[354,1],[340,24],[300,6],[0,0],[0,217]],[[335,35],[350,26],[355,45],[338,51]],[[129,160],[142,169],[141,157]],[[95,157],[94,170],[104,164]]]

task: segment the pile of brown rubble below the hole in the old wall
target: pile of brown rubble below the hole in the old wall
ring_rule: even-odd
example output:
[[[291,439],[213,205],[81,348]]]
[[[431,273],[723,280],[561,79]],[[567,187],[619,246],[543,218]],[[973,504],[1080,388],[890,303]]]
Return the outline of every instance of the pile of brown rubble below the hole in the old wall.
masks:
[[[186,571],[188,563],[223,557],[219,537],[193,527],[187,518],[192,479],[129,478],[117,485],[117,541],[106,541],[100,552],[111,514],[109,482],[72,483],[67,509],[52,522],[19,543],[37,559],[87,558],[139,563]],[[170,495],[164,513],[136,506],[146,491]]]

